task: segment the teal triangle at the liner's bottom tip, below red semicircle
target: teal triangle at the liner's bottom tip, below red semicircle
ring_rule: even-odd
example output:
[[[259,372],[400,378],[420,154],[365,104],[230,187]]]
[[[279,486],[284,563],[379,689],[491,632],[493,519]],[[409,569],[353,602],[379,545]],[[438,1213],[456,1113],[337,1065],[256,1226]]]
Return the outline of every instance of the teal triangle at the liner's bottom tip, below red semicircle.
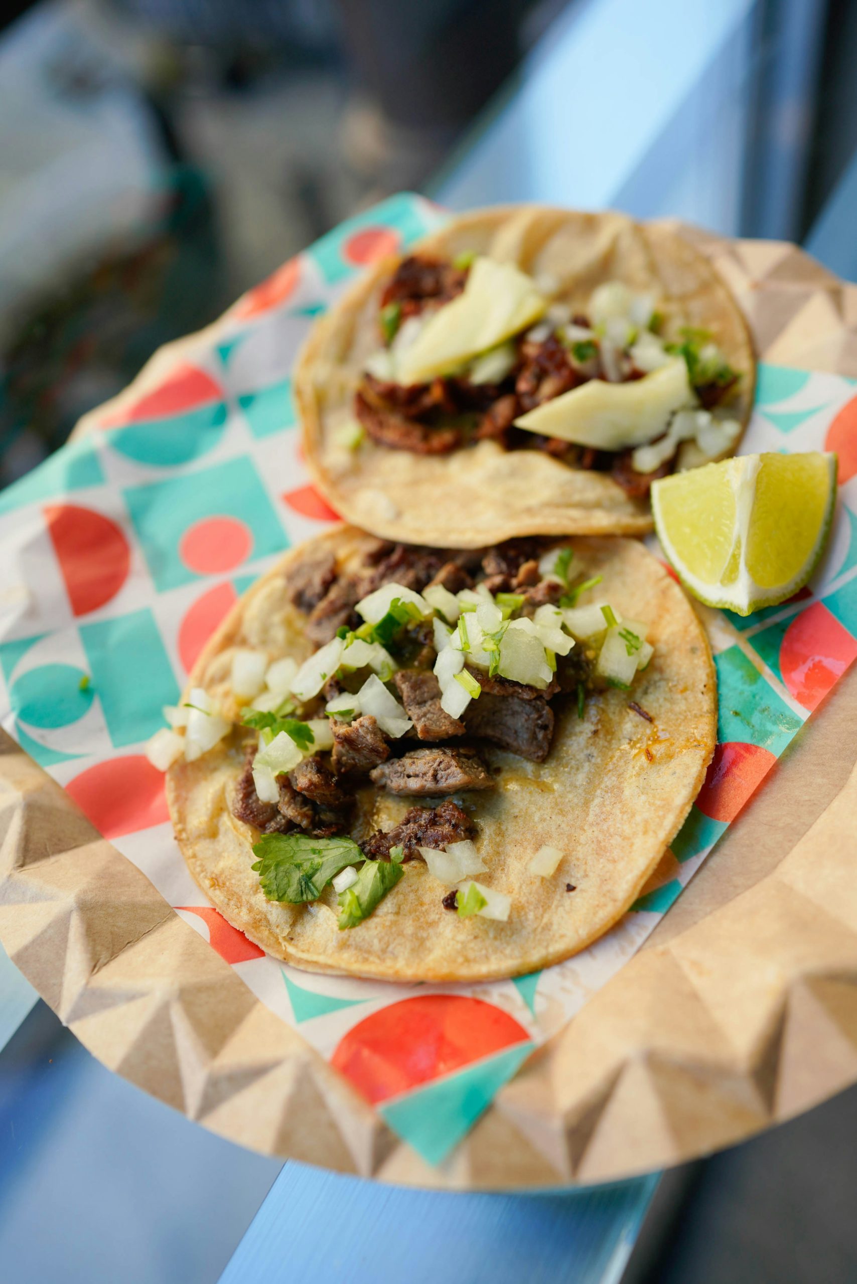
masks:
[[[378,1111],[427,1163],[442,1163],[532,1050],[529,1040],[505,1048],[425,1088],[383,1102]]]

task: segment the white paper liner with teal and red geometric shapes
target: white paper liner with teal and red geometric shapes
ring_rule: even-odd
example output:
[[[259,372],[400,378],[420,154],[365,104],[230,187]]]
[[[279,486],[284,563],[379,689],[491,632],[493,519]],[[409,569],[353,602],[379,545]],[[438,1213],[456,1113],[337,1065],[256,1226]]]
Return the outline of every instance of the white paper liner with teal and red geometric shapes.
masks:
[[[857,655],[853,381],[762,365],[741,449],[839,451],[834,538],[791,602],[747,620],[703,610],[720,682],[716,759],[655,877],[610,933],[515,981],[392,986],[285,967],[200,904],[143,745],[236,596],[335,519],[307,483],[290,402],[312,317],[360,266],[438,217],[398,196],[343,225],[162,361],[145,392],[90,416],[100,431],[0,497],[3,725],[432,1165],[448,1163],[533,1048],[636,953]]]

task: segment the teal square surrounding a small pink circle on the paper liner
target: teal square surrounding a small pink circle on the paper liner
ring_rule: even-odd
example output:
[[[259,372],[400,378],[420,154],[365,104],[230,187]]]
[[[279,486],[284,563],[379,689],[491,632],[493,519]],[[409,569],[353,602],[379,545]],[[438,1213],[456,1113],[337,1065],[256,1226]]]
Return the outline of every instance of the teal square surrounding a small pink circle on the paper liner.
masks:
[[[123,496],[149,571],[161,593],[200,578],[182,562],[179,546],[185,532],[206,517],[226,516],[243,521],[252,535],[249,559],[267,557],[289,544],[248,456],[239,456],[198,473],[131,487]]]

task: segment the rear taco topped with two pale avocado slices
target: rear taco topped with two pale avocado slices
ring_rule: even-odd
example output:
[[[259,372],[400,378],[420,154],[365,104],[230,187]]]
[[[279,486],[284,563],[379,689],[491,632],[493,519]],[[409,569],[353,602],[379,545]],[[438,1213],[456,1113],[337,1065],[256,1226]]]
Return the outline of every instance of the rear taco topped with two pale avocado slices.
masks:
[[[738,303],[677,232],[510,205],[364,275],[294,388],[338,512],[477,547],[649,530],[651,480],[732,453],[754,379]]]

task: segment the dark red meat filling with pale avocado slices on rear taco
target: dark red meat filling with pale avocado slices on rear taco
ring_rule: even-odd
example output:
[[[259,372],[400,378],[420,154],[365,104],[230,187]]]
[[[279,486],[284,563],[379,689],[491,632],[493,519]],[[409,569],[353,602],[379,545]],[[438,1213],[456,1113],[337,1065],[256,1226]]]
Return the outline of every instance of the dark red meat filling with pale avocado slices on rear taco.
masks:
[[[402,259],[380,290],[352,448],[361,433],[416,455],[491,440],[609,474],[641,498],[676,467],[682,443],[698,460],[735,446],[730,399],[743,372],[711,334],[673,316],[666,338],[654,293],[617,280],[594,289],[585,311],[556,290],[487,257]]]

